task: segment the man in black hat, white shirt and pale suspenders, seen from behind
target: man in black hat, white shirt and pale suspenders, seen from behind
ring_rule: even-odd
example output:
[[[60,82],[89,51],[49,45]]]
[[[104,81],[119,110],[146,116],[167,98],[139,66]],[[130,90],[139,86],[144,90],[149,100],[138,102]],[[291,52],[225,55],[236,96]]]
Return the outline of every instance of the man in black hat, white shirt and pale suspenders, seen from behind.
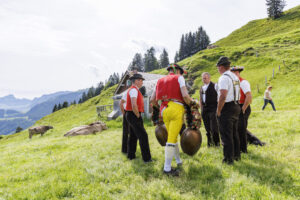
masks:
[[[221,74],[218,81],[217,117],[223,142],[223,163],[233,164],[233,160],[241,159],[238,136],[239,79],[230,72],[230,61],[227,57],[221,57],[217,62],[217,67]]]

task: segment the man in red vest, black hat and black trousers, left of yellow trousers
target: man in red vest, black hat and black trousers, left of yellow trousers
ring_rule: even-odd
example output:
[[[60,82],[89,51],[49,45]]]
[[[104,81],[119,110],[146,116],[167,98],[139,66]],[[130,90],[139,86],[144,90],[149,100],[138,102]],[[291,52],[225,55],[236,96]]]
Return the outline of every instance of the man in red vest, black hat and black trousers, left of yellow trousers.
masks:
[[[140,143],[140,149],[144,162],[151,162],[151,153],[148,141],[148,134],[144,128],[141,113],[144,112],[144,97],[139,91],[143,86],[143,76],[133,74],[130,78],[132,86],[128,89],[126,99],[125,117],[129,123],[129,139],[127,157],[132,160],[135,158],[137,140]]]

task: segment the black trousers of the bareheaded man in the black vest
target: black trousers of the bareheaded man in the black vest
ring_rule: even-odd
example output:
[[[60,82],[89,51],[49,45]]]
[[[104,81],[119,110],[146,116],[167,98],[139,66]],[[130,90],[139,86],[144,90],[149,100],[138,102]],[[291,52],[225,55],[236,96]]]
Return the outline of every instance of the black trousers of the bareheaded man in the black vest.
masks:
[[[207,146],[219,146],[220,136],[216,117],[216,110],[207,110],[204,107],[202,112],[202,119],[206,130]]]

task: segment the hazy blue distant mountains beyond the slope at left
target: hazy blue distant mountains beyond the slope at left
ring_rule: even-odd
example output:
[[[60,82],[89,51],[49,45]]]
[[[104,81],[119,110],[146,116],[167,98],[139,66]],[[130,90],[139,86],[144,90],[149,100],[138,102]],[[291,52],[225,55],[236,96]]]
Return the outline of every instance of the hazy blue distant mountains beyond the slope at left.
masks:
[[[17,99],[13,95],[1,97],[0,135],[12,134],[18,126],[23,129],[30,127],[35,121],[52,113],[55,104],[63,104],[65,101],[70,104],[74,100],[78,102],[82,93],[87,90],[56,92],[33,100]],[[20,110],[23,112],[19,112]],[[27,112],[24,113],[24,110]]]

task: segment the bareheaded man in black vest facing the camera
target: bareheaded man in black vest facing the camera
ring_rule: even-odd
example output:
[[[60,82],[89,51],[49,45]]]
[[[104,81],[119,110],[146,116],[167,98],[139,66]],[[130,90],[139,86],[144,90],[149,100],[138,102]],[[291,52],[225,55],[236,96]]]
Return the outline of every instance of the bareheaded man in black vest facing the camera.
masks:
[[[210,81],[208,72],[202,73],[204,85],[200,88],[200,107],[204,122],[207,146],[220,146],[219,128],[216,118],[218,93],[215,90],[215,83]]]

